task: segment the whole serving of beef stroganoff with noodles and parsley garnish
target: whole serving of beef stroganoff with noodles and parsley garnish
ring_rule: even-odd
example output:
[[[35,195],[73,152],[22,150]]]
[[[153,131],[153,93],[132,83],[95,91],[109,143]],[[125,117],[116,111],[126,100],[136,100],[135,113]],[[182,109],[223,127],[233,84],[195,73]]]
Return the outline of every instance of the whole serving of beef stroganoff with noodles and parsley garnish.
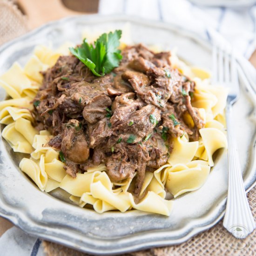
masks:
[[[64,189],[98,213],[169,216],[167,193],[199,189],[212,155],[227,147],[227,92],[175,52],[118,49],[120,37],[84,40],[72,54],[38,46],[24,68],[14,63],[0,76],[10,96],[0,102],[2,136],[14,152],[30,154],[20,169],[42,191]]]

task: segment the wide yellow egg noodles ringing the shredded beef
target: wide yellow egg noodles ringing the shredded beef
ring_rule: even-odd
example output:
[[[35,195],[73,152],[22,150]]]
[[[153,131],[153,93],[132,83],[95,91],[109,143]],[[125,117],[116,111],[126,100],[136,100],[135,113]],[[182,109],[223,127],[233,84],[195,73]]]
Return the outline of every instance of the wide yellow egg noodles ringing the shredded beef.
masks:
[[[199,141],[190,142],[186,133],[170,139],[173,151],[167,163],[154,173],[146,172],[141,189],[141,195],[146,196],[135,203],[133,195],[128,192],[128,188],[134,185],[133,179],[111,182],[104,164],[77,173],[76,178],[67,175],[64,163],[59,160],[59,151],[47,146],[53,136],[46,130],[39,132],[32,125],[32,101],[43,79],[40,71],[53,66],[63,54],[69,54],[67,46],[56,51],[38,46],[24,68],[15,62],[0,76],[0,86],[10,97],[0,102],[0,123],[6,125],[2,137],[14,152],[30,155],[21,160],[20,169],[41,191],[64,189],[70,194],[71,201],[80,207],[92,205],[98,213],[138,209],[169,216],[175,200],[166,200],[166,191],[176,198],[202,187],[214,166],[212,155],[217,149],[227,147],[223,115],[227,91],[221,86],[210,85],[207,71],[189,67],[172,52],[172,67],[195,81],[191,102],[199,109],[205,126],[199,130]],[[193,122],[190,116],[187,121]]]

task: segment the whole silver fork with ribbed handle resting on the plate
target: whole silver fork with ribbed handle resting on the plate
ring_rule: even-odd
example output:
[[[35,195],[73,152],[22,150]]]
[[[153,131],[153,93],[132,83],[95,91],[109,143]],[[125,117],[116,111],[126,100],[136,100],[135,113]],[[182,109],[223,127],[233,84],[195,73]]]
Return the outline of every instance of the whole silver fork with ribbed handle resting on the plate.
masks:
[[[228,137],[229,187],[223,226],[236,238],[245,238],[255,229],[249,203],[246,197],[236,139],[231,124],[232,105],[239,96],[236,59],[220,47],[213,47],[213,81],[229,89],[226,107]]]

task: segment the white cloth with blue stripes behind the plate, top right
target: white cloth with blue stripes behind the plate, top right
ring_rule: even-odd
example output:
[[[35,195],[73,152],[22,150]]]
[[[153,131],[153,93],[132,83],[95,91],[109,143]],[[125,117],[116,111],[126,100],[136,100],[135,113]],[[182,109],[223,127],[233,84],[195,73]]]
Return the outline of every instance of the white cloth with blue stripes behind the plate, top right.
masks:
[[[99,13],[124,13],[189,26],[206,39],[207,28],[220,32],[246,58],[256,48],[256,4],[251,7],[200,7],[189,0],[100,0]]]

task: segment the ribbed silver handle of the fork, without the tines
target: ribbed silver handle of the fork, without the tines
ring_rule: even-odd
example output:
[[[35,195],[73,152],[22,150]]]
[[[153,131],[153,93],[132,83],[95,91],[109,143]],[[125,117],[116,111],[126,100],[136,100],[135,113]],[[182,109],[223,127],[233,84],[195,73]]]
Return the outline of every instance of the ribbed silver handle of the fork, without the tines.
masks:
[[[228,137],[229,187],[223,226],[236,238],[245,238],[255,229],[246,197],[236,140],[231,125],[232,104],[226,107]]]

